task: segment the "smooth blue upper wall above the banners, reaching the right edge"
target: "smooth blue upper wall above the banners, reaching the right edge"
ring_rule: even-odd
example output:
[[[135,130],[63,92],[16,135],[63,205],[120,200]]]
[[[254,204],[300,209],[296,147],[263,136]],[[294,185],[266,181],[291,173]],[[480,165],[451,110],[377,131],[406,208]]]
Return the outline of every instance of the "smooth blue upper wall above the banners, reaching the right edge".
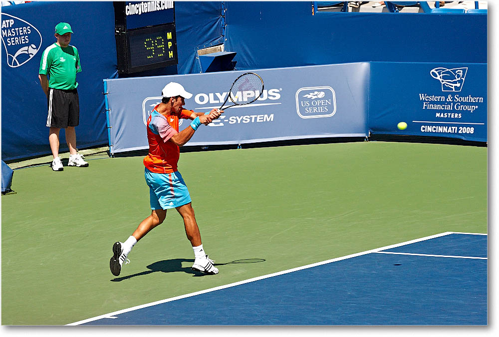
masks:
[[[345,62],[487,62],[487,15],[315,12],[309,1],[228,1],[238,69]]]

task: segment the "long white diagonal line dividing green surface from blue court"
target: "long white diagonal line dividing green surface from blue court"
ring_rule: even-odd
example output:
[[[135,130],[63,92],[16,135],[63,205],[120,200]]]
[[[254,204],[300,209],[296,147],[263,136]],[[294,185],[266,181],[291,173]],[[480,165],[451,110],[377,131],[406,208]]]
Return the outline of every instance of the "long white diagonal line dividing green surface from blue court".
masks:
[[[113,313],[109,313],[109,314],[105,314],[105,315],[100,315],[100,316],[92,317],[92,318],[89,318],[89,319],[86,319],[86,320],[82,320],[82,321],[78,321],[78,322],[74,322],[74,323],[69,323],[69,324],[66,324],[66,325],[67,326],[77,326],[77,325],[80,325],[80,324],[84,324],[84,323],[88,323],[88,322],[92,322],[92,321],[97,321],[97,320],[104,319],[104,318],[109,318],[111,316],[116,316],[116,315],[128,313],[128,312],[131,312],[131,311],[134,311],[134,310],[143,309],[143,308],[147,308],[147,307],[152,307],[152,306],[155,306],[155,305],[158,305],[158,304],[163,304],[163,303],[172,302],[172,301],[176,301],[176,300],[180,300],[180,299],[185,299],[185,298],[196,296],[196,295],[201,295],[201,294],[206,294],[206,293],[214,292],[214,291],[217,291],[217,290],[231,288],[231,287],[239,286],[239,285],[250,283],[250,282],[254,282],[254,281],[268,279],[268,278],[271,278],[271,277],[274,277],[274,276],[278,276],[278,275],[288,274],[288,273],[296,272],[296,271],[303,270],[303,269],[308,269],[308,268],[312,268],[312,267],[316,267],[316,266],[325,265],[325,264],[328,264],[328,263],[331,263],[331,262],[336,262],[336,261],[341,261],[341,260],[355,258],[355,257],[361,256],[361,255],[366,255],[366,254],[370,254],[370,253],[377,253],[379,251],[383,251],[383,250],[386,250],[386,249],[396,248],[396,247],[405,246],[405,245],[409,245],[409,244],[416,243],[416,242],[421,242],[421,241],[425,241],[425,240],[435,239],[435,238],[439,238],[439,237],[446,236],[446,235],[449,235],[449,234],[455,234],[455,232],[445,232],[445,233],[435,234],[435,235],[427,236],[427,237],[424,237],[424,238],[410,240],[410,241],[406,241],[406,242],[402,242],[402,243],[398,243],[398,244],[394,244],[394,245],[390,245],[390,246],[375,248],[375,249],[371,249],[369,251],[365,251],[365,252],[361,252],[361,253],[346,255],[346,256],[335,258],[335,259],[331,259],[331,260],[326,260],[326,261],[317,262],[317,263],[313,263],[313,264],[302,266],[302,267],[288,269],[288,270],[285,270],[285,271],[282,271],[282,272],[277,272],[277,273],[273,273],[273,274],[263,275],[263,276],[255,277],[255,278],[252,278],[252,279],[248,279],[248,280],[244,280],[244,281],[239,281],[239,282],[231,283],[231,284],[224,285],[224,286],[219,286],[219,287],[215,287],[215,288],[211,288],[211,289],[207,289],[207,290],[202,290],[202,291],[191,293],[191,294],[186,294],[186,295],[182,295],[182,296],[173,297],[171,299],[166,299],[166,300],[151,302],[151,303],[143,304],[143,305],[140,305],[140,306],[135,306],[135,307],[128,308],[128,309],[123,309],[123,310],[115,311]]]

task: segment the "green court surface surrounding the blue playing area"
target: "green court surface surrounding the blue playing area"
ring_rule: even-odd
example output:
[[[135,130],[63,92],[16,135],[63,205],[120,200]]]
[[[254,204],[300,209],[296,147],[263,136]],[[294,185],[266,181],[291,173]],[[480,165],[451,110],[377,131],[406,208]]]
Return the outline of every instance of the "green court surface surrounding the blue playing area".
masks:
[[[190,273],[194,254],[170,210],[115,278],[113,243],[150,214],[142,158],[14,171],[17,193],[1,197],[2,325],[64,325],[437,233],[487,233],[485,147],[189,152],[179,169],[220,274]]]

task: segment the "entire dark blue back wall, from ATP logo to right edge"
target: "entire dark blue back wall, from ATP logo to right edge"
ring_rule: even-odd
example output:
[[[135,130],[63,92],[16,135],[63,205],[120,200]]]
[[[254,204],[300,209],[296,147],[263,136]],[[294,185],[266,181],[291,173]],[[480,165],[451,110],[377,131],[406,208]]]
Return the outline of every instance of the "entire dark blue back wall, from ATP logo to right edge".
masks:
[[[119,77],[200,73],[197,51],[220,43],[237,52],[237,70],[366,61],[487,63],[487,15],[312,15],[311,1],[176,1],[175,10],[179,64]],[[77,145],[108,144],[102,81],[118,77],[112,2],[34,1],[2,7],[4,20],[30,31],[21,34],[28,40],[19,40],[19,47],[16,41],[0,47],[2,160],[50,153],[47,103],[37,74],[41,53],[55,41],[53,27],[59,21],[73,27],[72,44],[83,70],[77,76]],[[16,52],[21,64],[11,67],[7,53]],[[63,131],[60,142],[61,152],[66,151]]]

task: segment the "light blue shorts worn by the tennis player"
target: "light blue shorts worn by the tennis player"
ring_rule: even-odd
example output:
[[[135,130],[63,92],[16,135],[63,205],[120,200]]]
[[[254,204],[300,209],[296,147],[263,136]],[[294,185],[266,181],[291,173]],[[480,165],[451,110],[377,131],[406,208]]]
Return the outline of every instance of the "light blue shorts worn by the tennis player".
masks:
[[[191,202],[187,185],[180,172],[153,173],[144,170],[152,210],[175,208]]]

